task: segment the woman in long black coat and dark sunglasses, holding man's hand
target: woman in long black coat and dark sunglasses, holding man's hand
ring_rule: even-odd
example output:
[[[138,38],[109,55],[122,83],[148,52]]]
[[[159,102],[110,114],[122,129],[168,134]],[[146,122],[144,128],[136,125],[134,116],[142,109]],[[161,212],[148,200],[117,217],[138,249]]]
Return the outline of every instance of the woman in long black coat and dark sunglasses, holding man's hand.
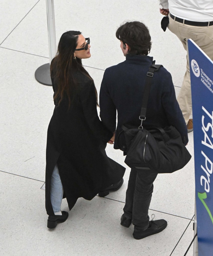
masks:
[[[114,134],[98,118],[97,91],[82,66],[81,59],[91,57],[89,42],[79,31],[63,33],[50,66],[55,109],[47,132],[48,228],[68,218],[62,198],[71,210],[79,197],[106,196],[123,184],[125,168],[105,152]]]

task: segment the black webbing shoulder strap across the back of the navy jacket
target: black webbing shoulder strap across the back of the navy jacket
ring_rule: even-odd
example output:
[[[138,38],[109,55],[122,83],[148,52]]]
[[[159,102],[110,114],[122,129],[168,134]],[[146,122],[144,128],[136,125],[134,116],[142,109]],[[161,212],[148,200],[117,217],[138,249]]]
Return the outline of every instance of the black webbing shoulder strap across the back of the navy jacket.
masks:
[[[154,71],[157,71],[161,66],[163,67],[163,65],[152,64],[149,68],[149,71],[147,72],[147,79],[146,79],[145,87],[143,91],[143,99],[142,99],[142,106],[141,106],[141,113],[140,113],[141,120],[145,120],[146,118],[147,103],[149,99],[149,92],[151,88],[151,82],[152,82],[152,77],[154,75]]]

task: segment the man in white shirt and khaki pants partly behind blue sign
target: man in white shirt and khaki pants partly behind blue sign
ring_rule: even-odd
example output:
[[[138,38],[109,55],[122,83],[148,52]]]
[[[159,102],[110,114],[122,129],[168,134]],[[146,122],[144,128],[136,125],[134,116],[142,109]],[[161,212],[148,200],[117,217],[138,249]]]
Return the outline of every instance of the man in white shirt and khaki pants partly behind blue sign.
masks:
[[[187,50],[191,38],[213,60],[213,1],[212,0],[159,0],[160,13],[169,15],[169,30],[174,33]],[[188,132],[193,131],[192,95],[189,60],[177,101],[182,110]]]

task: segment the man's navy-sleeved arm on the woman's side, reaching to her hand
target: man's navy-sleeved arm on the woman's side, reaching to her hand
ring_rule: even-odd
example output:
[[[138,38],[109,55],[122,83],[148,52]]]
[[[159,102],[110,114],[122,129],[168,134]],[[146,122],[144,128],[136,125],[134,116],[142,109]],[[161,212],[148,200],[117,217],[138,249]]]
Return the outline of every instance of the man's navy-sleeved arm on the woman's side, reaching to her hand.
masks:
[[[104,77],[100,87],[99,95],[100,119],[104,125],[111,131],[116,130],[116,106],[111,98],[107,87],[107,74],[104,72]]]

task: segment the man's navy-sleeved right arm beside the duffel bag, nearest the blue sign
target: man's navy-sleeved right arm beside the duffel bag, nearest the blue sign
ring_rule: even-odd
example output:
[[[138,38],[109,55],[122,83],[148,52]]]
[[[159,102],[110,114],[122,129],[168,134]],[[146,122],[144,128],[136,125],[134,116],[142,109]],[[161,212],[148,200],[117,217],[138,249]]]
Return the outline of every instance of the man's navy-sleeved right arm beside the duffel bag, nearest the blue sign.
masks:
[[[163,92],[161,103],[166,113],[170,125],[173,125],[180,132],[182,141],[186,145],[188,143],[188,131],[183,114],[176,100],[175,89],[172,82],[172,76],[167,71],[162,79]]]

